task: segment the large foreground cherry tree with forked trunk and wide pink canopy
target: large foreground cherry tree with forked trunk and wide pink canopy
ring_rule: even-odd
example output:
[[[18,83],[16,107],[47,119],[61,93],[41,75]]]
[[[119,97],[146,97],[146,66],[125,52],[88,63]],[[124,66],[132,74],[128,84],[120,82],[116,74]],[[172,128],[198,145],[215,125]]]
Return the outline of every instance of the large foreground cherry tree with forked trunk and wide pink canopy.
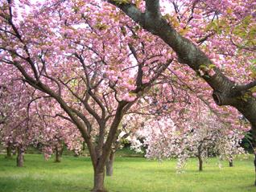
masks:
[[[171,10],[160,10],[159,1],[109,2],[140,27],[114,6],[97,1],[38,2],[36,6],[30,1],[1,1],[0,13],[0,62],[16,67],[27,84],[54,98],[67,113],[64,117],[81,131],[93,161],[95,191],[104,190],[105,161],[122,116],[163,71],[167,80],[188,85],[182,88],[194,92],[199,87],[206,102],[213,88],[217,104],[234,106],[254,125],[255,100],[249,90],[254,82],[246,84],[254,76],[247,62],[254,59],[254,22],[246,17],[253,15],[249,0],[239,4],[236,12],[228,9],[237,8],[235,1],[225,1],[223,6],[213,1],[171,1]],[[223,27],[228,23],[234,25]],[[240,35],[242,27],[246,32]],[[245,44],[243,39],[248,39]],[[233,66],[234,61],[241,64]],[[191,76],[193,71],[206,83]],[[235,83],[238,80],[241,84]],[[156,101],[164,106],[170,100]]]

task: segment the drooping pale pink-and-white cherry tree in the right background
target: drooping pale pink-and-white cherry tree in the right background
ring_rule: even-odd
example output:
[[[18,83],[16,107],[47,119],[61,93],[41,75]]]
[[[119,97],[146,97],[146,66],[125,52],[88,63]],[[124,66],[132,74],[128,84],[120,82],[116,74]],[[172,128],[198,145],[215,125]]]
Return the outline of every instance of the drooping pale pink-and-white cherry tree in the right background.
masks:
[[[234,121],[236,111],[216,108],[180,78],[175,84],[164,78],[163,84],[152,88],[148,96],[151,104],[147,119],[144,116],[142,120],[148,122],[130,140],[132,149],[141,152],[143,139],[149,146],[147,157],[178,157],[178,170],[182,170],[188,157],[197,157],[202,170],[209,149],[228,159],[232,154],[243,153],[239,141],[250,128],[243,121]]]

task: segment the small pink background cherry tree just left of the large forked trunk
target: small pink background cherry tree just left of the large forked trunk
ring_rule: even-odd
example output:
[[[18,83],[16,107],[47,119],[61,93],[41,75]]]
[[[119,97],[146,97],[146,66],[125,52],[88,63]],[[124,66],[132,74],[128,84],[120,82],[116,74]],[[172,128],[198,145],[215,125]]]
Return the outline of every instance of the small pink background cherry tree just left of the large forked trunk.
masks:
[[[76,154],[81,153],[81,133],[72,122],[63,118],[65,113],[54,100],[38,96],[31,105],[36,108],[41,122],[37,142],[46,160],[55,153],[55,161],[60,162],[65,146]]]

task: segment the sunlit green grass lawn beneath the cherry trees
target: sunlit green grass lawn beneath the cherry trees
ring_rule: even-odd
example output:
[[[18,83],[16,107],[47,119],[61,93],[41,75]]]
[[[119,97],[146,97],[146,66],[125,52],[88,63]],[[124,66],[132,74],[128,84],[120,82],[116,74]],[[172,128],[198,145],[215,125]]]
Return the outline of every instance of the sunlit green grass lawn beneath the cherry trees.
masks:
[[[44,161],[39,154],[26,154],[25,166],[15,167],[15,159],[0,155],[1,192],[80,192],[93,187],[93,169],[89,157],[64,156],[61,163]],[[256,191],[253,159],[234,161],[234,167],[217,159],[197,171],[196,159],[190,159],[183,174],[175,174],[175,160],[147,161],[142,157],[117,157],[114,176],[105,186],[114,192],[245,192]]]

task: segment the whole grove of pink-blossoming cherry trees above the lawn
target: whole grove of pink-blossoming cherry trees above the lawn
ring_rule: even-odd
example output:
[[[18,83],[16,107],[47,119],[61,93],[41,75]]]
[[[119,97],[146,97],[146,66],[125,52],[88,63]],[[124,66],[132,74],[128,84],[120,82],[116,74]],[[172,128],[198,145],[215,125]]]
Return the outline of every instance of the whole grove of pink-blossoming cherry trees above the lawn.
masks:
[[[78,153],[85,141],[93,191],[105,191],[122,129],[135,136],[146,126],[154,139],[164,129],[170,142],[179,132],[178,147],[180,139],[193,145],[180,153],[159,147],[156,156],[185,159],[187,151],[201,161],[201,141],[232,158],[251,125],[256,151],[255,7],[254,0],[0,0],[0,141],[18,147],[19,165],[28,145],[60,157],[64,144]]]

